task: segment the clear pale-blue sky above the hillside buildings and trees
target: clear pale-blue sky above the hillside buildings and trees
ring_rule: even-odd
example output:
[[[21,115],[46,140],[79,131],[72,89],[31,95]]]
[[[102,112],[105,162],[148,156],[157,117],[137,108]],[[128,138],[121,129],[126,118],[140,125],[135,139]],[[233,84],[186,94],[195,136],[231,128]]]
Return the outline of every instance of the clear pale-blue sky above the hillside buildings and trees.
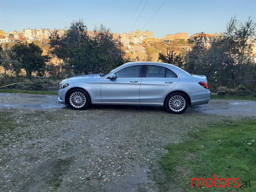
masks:
[[[72,20],[83,18],[88,30],[103,24],[112,32],[129,32],[147,0],[0,0],[0,29],[4,32],[25,28],[64,28]],[[149,0],[132,30],[141,29],[164,0]],[[140,6],[127,28],[138,4]],[[153,19],[143,29],[154,37],[187,32],[214,33],[224,31],[231,17],[242,22],[256,18],[255,0],[166,0]],[[127,30],[125,30],[127,28]]]

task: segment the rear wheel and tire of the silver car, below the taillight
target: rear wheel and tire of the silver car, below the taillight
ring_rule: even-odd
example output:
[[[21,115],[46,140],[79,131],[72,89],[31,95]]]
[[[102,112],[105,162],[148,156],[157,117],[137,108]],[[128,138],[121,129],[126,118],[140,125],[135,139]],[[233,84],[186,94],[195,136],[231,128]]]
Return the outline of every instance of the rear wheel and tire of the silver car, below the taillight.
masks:
[[[184,93],[176,92],[167,96],[164,107],[173,114],[181,114],[188,108],[188,97]]]

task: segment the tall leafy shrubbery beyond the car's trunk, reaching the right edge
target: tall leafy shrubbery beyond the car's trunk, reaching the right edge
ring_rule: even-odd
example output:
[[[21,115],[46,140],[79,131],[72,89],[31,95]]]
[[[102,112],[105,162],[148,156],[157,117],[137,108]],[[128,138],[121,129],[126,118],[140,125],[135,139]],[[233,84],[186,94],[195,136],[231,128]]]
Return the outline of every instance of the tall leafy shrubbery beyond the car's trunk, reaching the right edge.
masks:
[[[226,31],[212,38],[210,48],[204,46],[203,35],[194,42],[192,39],[194,47],[185,58],[185,70],[207,76],[212,90],[219,86],[235,88],[239,84],[247,89],[255,88],[256,66],[250,59],[255,29],[256,24],[251,18],[244,24],[231,18]]]

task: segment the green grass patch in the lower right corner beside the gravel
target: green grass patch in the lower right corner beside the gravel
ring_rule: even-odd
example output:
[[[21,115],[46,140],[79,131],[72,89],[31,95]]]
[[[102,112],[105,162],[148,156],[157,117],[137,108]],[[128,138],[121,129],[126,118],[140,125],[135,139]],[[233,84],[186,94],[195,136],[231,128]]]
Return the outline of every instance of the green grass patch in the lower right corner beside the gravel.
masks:
[[[169,152],[160,160],[167,181],[174,181],[177,188],[184,191],[238,190],[233,187],[237,185],[233,180],[230,181],[229,188],[202,188],[202,181],[199,181],[199,188],[196,187],[196,181],[191,188],[191,178],[213,179],[216,174],[219,179],[239,178],[240,186],[243,186],[243,182],[248,184],[250,179],[251,188],[241,187],[240,190],[256,191],[255,127],[256,119],[213,124],[201,132],[191,133],[193,139],[185,143],[168,146]],[[163,181],[156,182],[163,189],[161,191],[167,191]],[[210,185],[211,181],[208,182]],[[219,180],[216,184],[219,185]],[[224,180],[221,185],[224,185]]]

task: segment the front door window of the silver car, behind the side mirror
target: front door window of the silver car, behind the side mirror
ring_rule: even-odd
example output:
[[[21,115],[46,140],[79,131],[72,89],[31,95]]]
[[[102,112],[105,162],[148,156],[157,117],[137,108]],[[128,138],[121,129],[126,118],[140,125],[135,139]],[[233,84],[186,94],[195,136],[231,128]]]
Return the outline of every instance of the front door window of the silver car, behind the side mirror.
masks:
[[[137,78],[140,76],[141,68],[142,65],[130,66],[117,71],[115,74],[117,78]]]

